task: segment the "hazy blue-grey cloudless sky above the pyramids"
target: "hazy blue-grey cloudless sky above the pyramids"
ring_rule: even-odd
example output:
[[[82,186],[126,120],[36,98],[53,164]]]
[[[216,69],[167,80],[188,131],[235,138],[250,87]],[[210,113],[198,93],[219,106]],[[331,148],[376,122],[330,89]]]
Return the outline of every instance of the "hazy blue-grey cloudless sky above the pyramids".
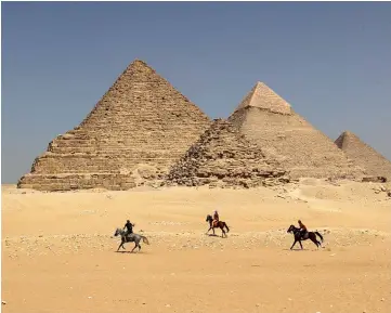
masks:
[[[257,80],[391,159],[390,2],[2,2],[2,182],[30,170],[135,57],[210,117]]]

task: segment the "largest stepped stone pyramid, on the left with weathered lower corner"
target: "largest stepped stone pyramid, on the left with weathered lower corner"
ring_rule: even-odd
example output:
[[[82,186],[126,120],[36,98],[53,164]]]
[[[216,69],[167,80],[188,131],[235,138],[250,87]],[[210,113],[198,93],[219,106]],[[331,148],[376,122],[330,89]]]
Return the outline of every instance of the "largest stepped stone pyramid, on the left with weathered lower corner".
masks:
[[[210,119],[135,60],[87,118],[54,139],[18,187],[128,190],[161,179]]]

